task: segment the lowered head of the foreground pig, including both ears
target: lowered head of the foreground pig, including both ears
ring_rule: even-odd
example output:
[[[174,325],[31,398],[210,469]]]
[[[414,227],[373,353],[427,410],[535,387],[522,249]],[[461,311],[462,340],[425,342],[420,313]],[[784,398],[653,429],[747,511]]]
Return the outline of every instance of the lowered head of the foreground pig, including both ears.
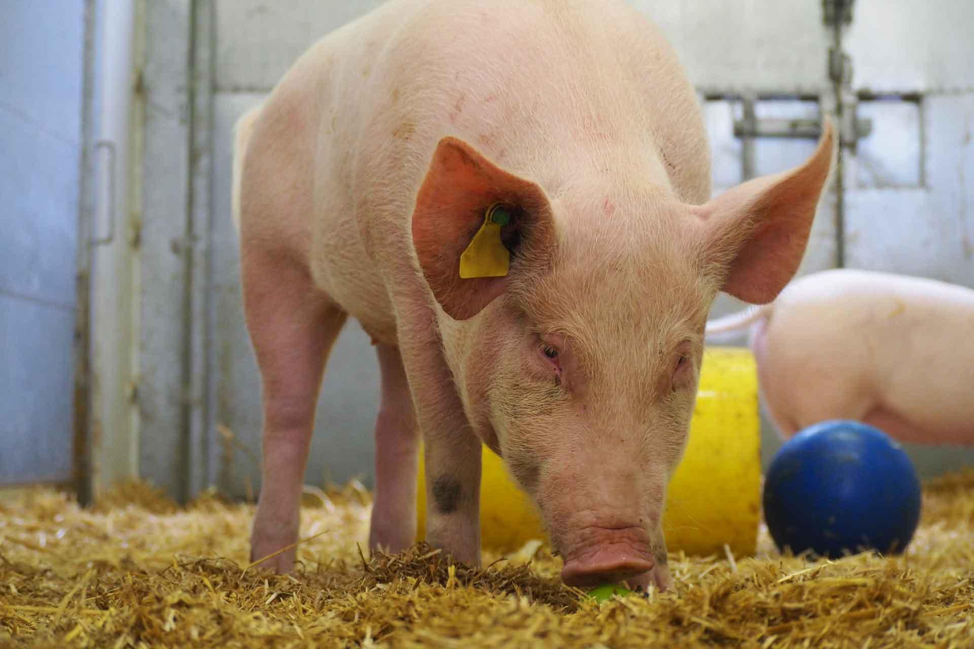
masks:
[[[470,422],[541,508],[564,580],[669,583],[662,513],[686,447],[718,291],[766,303],[805,253],[832,128],[791,171],[703,205],[618,171],[551,198],[442,140],[413,242]],[[460,277],[460,256],[502,203],[510,270]],[[473,317],[477,316],[477,317]],[[714,503],[720,507],[720,503]]]

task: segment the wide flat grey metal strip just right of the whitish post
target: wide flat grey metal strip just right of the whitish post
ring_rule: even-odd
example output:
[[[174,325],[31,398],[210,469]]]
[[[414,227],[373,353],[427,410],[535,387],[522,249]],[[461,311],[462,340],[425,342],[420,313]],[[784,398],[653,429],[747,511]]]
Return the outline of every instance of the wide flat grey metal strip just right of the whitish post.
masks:
[[[142,0],[138,330],[139,475],[186,498],[191,0]]]

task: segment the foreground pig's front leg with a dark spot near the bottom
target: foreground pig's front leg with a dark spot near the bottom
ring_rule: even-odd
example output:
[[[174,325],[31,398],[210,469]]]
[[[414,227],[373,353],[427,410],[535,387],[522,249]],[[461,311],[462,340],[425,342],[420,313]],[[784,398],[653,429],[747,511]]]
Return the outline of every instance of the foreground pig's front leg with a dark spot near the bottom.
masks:
[[[423,315],[428,309],[411,310],[415,322],[400,327],[399,348],[423,431],[427,541],[454,559],[477,565],[480,440],[464,413],[431,315]]]

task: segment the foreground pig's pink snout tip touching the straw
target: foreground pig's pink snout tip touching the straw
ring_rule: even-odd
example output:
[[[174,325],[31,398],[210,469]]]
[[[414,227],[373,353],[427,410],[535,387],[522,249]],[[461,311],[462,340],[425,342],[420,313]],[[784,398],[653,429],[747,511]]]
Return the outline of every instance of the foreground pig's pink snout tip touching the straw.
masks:
[[[645,589],[654,581],[656,558],[642,527],[588,527],[580,535],[584,540],[564,555],[561,578],[569,586],[625,581]]]

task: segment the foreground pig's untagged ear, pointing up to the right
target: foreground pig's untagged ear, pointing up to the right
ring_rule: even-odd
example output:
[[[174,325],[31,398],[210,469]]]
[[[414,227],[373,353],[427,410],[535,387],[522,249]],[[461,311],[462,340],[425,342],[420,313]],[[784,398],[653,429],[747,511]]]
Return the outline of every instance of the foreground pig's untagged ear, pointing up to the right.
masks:
[[[727,271],[721,290],[765,304],[791,281],[805,255],[834,140],[826,120],[815,153],[801,166],[755,178],[693,208],[704,223],[707,260]]]

